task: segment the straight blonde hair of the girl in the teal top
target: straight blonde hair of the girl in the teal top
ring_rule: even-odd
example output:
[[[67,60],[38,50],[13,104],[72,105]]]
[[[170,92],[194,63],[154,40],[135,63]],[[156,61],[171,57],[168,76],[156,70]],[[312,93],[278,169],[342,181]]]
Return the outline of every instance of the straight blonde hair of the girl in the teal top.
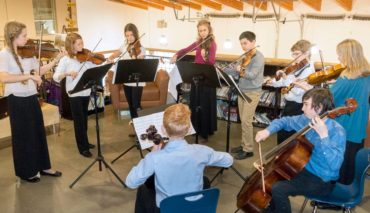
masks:
[[[347,66],[341,76],[357,78],[368,76],[370,66],[364,56],[361,44],[354,39],[345,39],[337,45],[337,54],[341,63]]]

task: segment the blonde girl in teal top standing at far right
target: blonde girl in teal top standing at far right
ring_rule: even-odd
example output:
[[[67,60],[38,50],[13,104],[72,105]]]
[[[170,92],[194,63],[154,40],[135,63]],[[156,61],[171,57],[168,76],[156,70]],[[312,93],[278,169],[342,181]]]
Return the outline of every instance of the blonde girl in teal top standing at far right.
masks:
[[[353,39],[346,39],[337,45],[339,61],[346,66],[331,92],[335,106],[341,106],[348,98],[356,99],[358,107],[351,115],[336,118],[346,130],[347,143],[344,161],[340,170],[339,182],[350,184],[354,177],[355,157],[364,147],[366,126],[369,117],[370,66],[366,60],[361,44]]]

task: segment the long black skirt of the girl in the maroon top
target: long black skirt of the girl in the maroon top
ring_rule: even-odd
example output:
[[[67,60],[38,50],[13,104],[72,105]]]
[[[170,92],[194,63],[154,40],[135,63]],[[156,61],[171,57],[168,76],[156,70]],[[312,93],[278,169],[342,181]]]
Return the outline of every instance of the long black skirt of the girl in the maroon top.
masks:
[[[195,85],[190,90],[191,122],[198,135],[208,138],[217,130],[217,99],[216,88],[198,86],[196,94]],[[197,115],[197,107],[200,110]]]

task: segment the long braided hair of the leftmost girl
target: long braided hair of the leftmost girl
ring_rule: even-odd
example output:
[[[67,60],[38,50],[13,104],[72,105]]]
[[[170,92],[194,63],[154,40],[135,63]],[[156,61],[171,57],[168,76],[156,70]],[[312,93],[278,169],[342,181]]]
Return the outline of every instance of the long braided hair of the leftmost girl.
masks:
[[[13,42],[14,40],[22,33],[22,30],[26,28],[26,25],[16,21],[10,21],[5,24],[4,27],[4,38],[5,38],[5,46],[10,49],[15,62],[19,66],[21,73],[24,73],[23,67],[21,62],[19,61],[18,55],[14,49]]]

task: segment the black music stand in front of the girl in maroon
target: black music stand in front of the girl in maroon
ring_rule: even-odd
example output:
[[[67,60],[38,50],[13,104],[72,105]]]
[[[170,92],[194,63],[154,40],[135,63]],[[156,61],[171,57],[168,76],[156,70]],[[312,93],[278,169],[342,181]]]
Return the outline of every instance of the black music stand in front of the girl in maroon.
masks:
[[[207,87],[220,87],[216,68],[210,64],[196,64],[185,61],[176,62],[177,68],[180,72],[182,81],[185,83],[194,83],[195,85],[195,115],[197,118],[196,130],[199,129],[200,124],[200,113],[202,107],[200,106],[199,100],[199,85]],[[195,134],[195,143],[198,143],[198,132]]]

